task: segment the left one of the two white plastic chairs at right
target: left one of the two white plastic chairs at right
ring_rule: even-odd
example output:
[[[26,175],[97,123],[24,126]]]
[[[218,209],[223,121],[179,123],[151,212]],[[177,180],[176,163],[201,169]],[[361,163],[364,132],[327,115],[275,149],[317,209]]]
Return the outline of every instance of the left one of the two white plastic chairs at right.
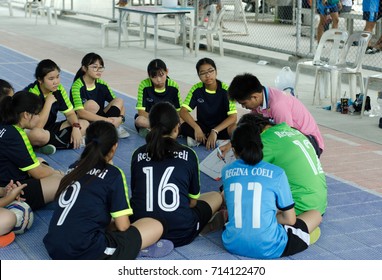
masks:
[[[298,96],[298,82],[300,79],[300,73],[303,68],[315,69],[316,75],[319,66],[323,65],[335,65],[339,62],[340,53],[343,49],[348,33],[340,29],[329,29],[321,37],[320,43],[317,46],[316,53],[313,60],[306,60],[299,62],[296,68],[296,80],[295,80],[295,95]],[[324,59],[324,55],[325,58]],[[313,95],[313,104],[315,103],[316,92]]]

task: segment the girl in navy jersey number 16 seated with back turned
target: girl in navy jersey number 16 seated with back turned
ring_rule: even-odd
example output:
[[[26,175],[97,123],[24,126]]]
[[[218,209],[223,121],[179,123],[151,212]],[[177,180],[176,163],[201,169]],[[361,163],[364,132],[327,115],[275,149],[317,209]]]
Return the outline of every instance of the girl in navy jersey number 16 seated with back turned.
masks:
[[[179,115],[173,105],[160,102],[149,114],[151,131],[147,144],[131,161],[133,219],[154,217],[167,224],[164,238],[175,247],[189,244],[220,208],[218,192],[200,194],[199,164],[195,152],[176,141]],[[205,229],[221,229],[224,216],[218,212]],[[210,228],[211,226],[211,228]]]

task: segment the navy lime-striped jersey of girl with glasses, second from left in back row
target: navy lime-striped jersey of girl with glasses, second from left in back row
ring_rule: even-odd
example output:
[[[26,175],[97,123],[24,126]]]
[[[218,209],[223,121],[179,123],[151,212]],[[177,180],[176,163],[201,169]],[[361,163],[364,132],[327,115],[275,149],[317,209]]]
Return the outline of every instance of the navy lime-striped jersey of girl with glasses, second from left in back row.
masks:
[[[75,111],[83,109],[84,103],[88,100],[94,100],[103,111],[105,102],[110,103],[116,97],[105,81],[96,79],[95,86],[87,88],[82,77],[74,81],[70,93]]]

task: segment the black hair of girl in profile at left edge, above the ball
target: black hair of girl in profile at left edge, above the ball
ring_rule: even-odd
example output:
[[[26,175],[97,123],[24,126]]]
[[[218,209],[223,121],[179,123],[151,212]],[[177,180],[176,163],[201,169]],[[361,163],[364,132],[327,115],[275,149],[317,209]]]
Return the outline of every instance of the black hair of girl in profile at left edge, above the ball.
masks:
[[[19,123],[20,114],[27,112],[39,114],[41,99],[28,91],[18,91],[13,96],[5,96],[0,101],[0,123],[14,125]]]

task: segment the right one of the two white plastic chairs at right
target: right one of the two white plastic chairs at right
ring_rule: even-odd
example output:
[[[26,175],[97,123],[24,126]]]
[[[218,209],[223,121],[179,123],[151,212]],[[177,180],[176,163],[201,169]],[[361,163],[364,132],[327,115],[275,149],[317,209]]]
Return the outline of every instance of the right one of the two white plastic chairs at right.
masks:
[[[323,65],[316,71],[315,93],[318,88],[320,75],[329,73],[330,75],[330,98],[332,110],[336,110],[337,100],[341,95],[342,75],[349,75],[350,97],[355,100],[355,88],[358,84],[360,92],[364,92],[363,75],[362,75],[362,60],[365,55],[366,48],[371,39],[370,32],[357,32],[349,36],[343,51],[341,52],[340,60],[336,65]],[[356,45],[356,46],[353,46]],[[353,55],[355,50],[355,56]],[[364,98],[366,100],[366,98]],[[362,117],[362,115],[361,115]]]

